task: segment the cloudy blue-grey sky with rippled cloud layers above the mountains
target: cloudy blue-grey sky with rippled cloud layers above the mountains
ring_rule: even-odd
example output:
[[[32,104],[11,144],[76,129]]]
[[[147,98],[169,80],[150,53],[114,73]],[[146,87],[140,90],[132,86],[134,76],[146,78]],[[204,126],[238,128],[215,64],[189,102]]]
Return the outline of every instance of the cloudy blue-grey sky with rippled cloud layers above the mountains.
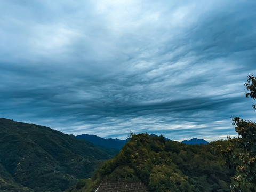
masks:
[[[256,1],[0,2],[0,117],[207,141],[256,121]]]

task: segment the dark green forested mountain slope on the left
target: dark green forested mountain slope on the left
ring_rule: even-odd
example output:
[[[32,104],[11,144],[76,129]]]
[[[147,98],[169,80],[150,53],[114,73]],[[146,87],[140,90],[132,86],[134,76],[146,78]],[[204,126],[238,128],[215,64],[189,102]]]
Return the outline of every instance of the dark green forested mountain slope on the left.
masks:
[[[63,191],[114,156],[74,135],[0,118],[0,191]]]

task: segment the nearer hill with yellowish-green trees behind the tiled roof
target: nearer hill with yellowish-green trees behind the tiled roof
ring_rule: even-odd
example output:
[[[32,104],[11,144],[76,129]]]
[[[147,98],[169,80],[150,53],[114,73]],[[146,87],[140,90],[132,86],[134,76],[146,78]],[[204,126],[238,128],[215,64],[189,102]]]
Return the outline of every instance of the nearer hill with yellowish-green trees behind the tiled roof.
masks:
[[[230,191],[235,170],[221,165],[222,158],[214,152],[218,145],[226,148],[228,141],[199,146],[147,133],[133,135],[118,155],[105,161],[91,179],[81,180],[72,191],[95,191],[106,181],[142,182],[148,191],[155,192]]]

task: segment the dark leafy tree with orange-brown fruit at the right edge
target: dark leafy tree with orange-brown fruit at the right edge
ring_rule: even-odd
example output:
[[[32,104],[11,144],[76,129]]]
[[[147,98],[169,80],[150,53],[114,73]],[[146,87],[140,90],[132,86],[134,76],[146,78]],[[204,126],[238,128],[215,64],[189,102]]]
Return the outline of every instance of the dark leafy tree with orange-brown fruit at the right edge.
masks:
[[[246,98],[256,99],[256,79],[248,76],[245,86],[249,93]],[[252,108],[256,111],[255,105]],[[236,167],[236,175],[231,185],[231,191],[249,192],[256,191],[256,123],[233,117],[233,125],[238,134],[237,138],[230,138],[230,146],[222,150],[229,167]],[[221,146],[218,146],[221,147]]]

